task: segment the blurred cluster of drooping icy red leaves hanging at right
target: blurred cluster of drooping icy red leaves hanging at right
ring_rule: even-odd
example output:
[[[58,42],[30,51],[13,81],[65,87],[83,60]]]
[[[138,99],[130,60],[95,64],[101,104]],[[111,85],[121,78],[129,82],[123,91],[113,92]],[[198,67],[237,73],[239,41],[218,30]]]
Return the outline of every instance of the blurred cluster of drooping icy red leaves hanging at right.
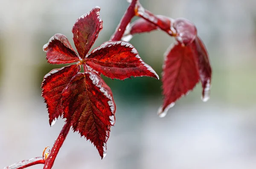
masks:
[[[148,17],[149,15],[129,25],[122,39],[129,41],[134,34],[160,29]],[[161,15],[157,17],[161,23],[169,22],[169,28],[177,40],[173,48],[166,52],[162,79],[164,103],[158,111],[158,114],[163,117],[177,99],[195,87],[199,79],[203,87],[202,100],[207,101],[210,94],[212,69],[204,43],[197,37],[194,23],[184,18],[173,20]]]

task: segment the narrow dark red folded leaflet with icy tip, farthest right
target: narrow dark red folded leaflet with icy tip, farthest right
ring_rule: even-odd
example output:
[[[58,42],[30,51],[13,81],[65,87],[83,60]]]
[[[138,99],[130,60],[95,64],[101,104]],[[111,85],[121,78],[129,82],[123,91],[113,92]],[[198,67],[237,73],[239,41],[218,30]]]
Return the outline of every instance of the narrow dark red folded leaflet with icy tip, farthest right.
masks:
[[[200,81],[203,87],[202,100],[207,101],[210,96],[212,68],[209,61],[209,55],[202,40],[199,37],[197,37],[194,43],[196,51],[198,52],[198,68]]]

